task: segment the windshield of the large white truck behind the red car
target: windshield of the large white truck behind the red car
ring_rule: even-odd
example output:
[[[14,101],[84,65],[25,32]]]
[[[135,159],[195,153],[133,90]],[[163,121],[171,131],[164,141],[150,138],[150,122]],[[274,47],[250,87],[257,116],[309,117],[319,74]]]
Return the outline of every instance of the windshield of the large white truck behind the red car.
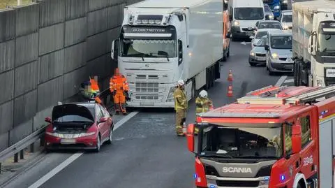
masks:
[[[177,57],[176,40],[124,39],[121,57]]]

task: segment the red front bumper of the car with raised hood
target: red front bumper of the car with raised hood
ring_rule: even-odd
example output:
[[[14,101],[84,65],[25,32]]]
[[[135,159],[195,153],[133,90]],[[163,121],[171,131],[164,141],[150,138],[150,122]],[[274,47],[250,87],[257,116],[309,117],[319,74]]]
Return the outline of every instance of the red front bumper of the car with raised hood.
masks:
[[[45,135],[45,148],[48,150],[92,150],[96,148],[96,135],[71,139],[74,142],[63,143],[63,138]]]

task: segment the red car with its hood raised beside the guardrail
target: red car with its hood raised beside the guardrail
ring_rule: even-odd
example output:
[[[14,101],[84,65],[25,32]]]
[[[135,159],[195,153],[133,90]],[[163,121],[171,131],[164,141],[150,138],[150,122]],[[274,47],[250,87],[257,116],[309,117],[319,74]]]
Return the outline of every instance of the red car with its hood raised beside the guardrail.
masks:
[[[114,123],[110,113],[98,103],[66,103],[54,106],[45,129],[45,150],[80,149],[100,151],[112,143]]]

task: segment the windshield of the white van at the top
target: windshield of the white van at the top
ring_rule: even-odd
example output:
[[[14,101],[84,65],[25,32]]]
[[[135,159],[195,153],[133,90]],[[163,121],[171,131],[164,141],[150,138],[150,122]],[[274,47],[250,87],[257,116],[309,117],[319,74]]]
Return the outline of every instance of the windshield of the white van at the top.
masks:
[[[234,8],[236,20],[262,20],[264,19],[264,8]]]

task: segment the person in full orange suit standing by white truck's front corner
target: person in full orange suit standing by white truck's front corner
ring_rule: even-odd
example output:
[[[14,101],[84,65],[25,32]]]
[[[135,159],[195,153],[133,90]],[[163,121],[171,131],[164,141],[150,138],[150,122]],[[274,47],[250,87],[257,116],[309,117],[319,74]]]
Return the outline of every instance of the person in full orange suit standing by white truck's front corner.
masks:
[[[116,114],[122,111],[124,115],[127,115],[126,98],[127,100],[129,99],[128,90],[129,86],[126,77],[119,72],[119,68],[115,68],[114,76],[110,78],[110,92],[114,99]]]

